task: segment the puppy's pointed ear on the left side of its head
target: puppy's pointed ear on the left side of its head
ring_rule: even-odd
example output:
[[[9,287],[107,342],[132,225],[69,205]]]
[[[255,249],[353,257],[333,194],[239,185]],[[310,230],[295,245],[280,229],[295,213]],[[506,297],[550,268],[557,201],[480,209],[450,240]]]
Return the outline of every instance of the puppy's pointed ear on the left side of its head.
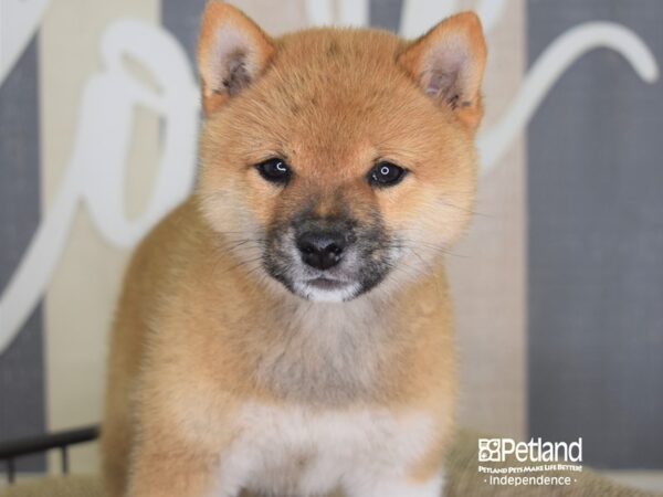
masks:
[[[232,6],[209,1],[198,40],[204,114],[210,115],[249,86],[273,53],[270,38],[251,19]]]

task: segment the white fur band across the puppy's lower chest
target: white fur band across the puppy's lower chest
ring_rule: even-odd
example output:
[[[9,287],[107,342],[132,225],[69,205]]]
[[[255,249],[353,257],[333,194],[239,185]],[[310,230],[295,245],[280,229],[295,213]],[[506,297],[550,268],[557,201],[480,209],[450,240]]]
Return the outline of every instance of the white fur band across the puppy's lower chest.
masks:
[[[214,496],[234,497],[240,488],[302,497],[337,487],[362,497],[440,493],[441,478],[417,488],[408,483],[408,468],[431,443],[432,423],[424,414],[246,404],[234,427],[238,436],[222,455]]]

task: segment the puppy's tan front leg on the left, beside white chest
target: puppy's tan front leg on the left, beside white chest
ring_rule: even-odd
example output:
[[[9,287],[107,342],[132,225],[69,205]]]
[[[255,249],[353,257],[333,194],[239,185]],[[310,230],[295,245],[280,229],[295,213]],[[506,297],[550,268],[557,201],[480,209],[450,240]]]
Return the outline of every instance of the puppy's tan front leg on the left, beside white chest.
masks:
[[[157,368],[141,380],[127,497],[236,497],[241,482],[229,477],[241,475],[221,475],[234,433],[228,396],[210,395],[204,379],[175,388]]]

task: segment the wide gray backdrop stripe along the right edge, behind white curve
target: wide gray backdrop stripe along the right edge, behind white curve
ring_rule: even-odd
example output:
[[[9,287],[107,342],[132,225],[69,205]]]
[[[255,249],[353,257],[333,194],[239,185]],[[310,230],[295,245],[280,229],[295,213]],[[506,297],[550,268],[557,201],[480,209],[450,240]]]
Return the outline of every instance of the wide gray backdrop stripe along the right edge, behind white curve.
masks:
[[[586,21],[633,29],[663,63],[663,2],[529,2],[529,62]],[[663,83],[606,49],[528,131],[529,431],[583,437],[589,464],[663,467]]]

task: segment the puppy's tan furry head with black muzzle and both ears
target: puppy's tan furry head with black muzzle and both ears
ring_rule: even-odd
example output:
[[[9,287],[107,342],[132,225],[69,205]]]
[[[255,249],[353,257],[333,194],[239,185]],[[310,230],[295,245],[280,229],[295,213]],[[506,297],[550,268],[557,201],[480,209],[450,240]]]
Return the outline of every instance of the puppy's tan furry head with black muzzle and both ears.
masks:
[[[210,2],[199,194],[220,246],[312,300],[428,271],[472,209],[485,55],[472,13],[413,42],[332,29],[274,40]]]

